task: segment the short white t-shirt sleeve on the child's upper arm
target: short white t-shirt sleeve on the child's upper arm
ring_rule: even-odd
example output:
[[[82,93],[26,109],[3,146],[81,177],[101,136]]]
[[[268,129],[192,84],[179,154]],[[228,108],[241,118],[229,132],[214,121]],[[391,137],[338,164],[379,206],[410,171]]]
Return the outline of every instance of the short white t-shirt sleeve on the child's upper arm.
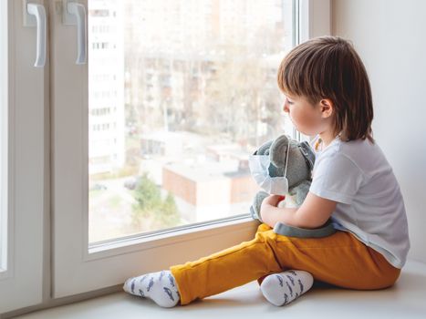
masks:
[[[309,191],[331,201],[350,204],[364,179],[355,163],[341,154],[318,159]]]

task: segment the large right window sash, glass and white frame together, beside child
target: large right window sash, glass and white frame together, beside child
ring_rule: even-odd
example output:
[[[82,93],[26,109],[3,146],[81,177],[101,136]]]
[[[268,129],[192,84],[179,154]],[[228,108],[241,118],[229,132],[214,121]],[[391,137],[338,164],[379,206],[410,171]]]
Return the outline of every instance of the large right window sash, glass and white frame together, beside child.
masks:
[[[298,16],[317,12],[296,0],[79,3],[87,65],[72,28],[49,20],[55,298],[250,238],[244,160],[294,133],[276,69],[309,35]]]

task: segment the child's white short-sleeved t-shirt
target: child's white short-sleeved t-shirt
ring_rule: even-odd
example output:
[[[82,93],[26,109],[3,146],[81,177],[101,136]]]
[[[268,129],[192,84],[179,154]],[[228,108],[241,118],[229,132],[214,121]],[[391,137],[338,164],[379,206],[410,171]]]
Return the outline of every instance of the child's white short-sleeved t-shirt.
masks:
[[[337,138],[316,155],[309,191],[338,202],[331,216],[335,227],[402,268],[410,249],[407,216],[399,183],[377,142]]]

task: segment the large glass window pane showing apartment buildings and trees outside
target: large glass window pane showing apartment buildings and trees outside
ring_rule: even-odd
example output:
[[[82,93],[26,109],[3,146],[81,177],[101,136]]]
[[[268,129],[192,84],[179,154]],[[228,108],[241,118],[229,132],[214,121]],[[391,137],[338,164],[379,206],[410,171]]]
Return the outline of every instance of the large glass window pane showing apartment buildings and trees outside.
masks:
[[[247,214],[292,0],[89,0],[89,242]]]

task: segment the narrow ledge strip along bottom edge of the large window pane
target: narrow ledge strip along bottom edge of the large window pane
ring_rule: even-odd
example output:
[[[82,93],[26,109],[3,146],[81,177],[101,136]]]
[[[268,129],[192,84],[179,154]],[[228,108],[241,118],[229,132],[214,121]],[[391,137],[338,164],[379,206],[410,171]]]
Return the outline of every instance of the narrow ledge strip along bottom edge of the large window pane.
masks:
[[[258,221],[249,215],[239,215],[225,220],[205,221],[165,231],[128,236],[116,241],[96,242],[89,245],[85,261],[92,261],[121,253],[140,252],[178,242],[196,240],[219,235],[223,232],[235,232],[254,229]]]

